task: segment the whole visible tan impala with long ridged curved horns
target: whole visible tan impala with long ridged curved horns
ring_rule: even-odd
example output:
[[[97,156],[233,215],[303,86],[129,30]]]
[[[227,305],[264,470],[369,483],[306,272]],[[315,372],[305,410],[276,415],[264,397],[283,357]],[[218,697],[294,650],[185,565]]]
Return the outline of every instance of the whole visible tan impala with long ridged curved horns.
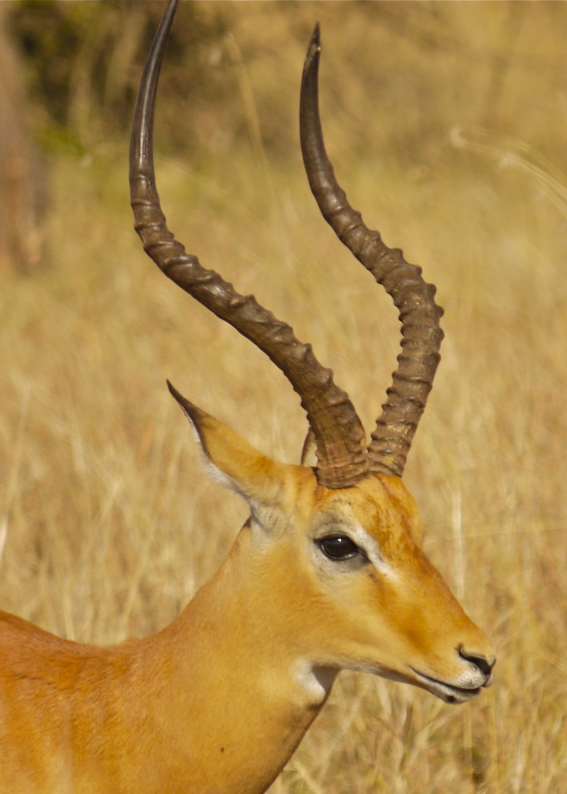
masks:
[[[438,365],[442,310],[420,269],[367,229],[334,178],[318,113],[318,27],[300,99],[311,191],[402,322],[399,367],[368,445],[311,345],[168,230],[152,122],[176,4],[156,33],[133,119],[135,227],[166,276],[284,372],[310,430],[301,464],[272,461],[169,384],[206,464],[249,503],[250,517],[218,572],[148,638],[98,648],[0,615],[0,790],[10,794],[257,794],[341,669],[414,684],[447,703],[492,682],[488,639],[423,553],[419,512],[401,479]]]

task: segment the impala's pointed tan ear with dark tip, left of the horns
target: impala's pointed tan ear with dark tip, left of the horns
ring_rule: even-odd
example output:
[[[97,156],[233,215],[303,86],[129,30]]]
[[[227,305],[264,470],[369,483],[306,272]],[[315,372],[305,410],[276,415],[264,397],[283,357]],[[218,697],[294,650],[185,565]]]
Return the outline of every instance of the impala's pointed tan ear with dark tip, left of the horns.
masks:
[[[272,461],[254,449],[229,426],[190,403],[168,381],[168,388],[189,419],[214,480],[243,496],[248,502],[281,504],[291,470],[296,468]]]

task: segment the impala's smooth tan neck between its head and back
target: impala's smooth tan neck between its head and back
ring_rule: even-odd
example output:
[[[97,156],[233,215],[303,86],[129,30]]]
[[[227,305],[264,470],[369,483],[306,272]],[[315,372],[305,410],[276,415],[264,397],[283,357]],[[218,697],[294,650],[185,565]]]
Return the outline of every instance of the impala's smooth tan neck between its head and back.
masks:
[[[154,775],[163,788],[170,774],[187,792],[264,792],[325,702],[334,671],[290,651],[272,583],[251,587],[253,565],[245,528],[179,618],[131,646],[133,692],[147,696],[129,708],[151,724],[147,746],[137,737],[130,750],[137,792],[155,790]]]

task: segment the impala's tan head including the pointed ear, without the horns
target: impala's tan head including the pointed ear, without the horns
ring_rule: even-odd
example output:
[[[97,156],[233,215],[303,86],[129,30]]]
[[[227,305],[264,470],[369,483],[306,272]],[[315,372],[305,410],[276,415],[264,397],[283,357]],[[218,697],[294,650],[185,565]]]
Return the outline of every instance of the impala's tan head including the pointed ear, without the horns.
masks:
[[[203,411],[187,415],[210,468],[251,507],[242,576],[270,647],[286,638],[303,669],[327,679],[363,670],[452,703],[491,683],[488,639],[423,553],[419,512],[399,477],[330,490],[311,468],[271,461]]]

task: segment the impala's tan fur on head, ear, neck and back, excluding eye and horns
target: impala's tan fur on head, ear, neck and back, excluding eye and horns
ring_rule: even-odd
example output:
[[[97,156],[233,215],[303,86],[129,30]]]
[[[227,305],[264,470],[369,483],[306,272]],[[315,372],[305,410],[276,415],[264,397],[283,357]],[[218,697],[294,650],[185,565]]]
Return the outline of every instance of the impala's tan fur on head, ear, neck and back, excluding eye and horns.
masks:
[[[456,700],[488,683],[458,653],[492,664],[488,640],[420,549],[401,480],[329,491],[204,412],[192,421],[249,522],[152,637],[101,649],[0,613],[0,792],[264,792],[340,669],[435,691],[418,670],[464,688]],[[376,565],[322,554],[315,540],[339,527]]]

